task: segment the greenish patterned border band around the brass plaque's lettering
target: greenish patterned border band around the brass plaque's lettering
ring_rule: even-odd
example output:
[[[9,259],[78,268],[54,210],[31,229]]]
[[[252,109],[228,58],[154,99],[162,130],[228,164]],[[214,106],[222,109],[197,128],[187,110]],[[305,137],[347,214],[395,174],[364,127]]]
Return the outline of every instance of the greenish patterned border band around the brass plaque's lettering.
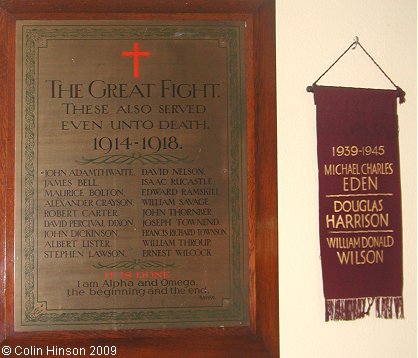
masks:
[[[48,325],[57,326],[71,326],[71,325],[111,325],[115,326],[129,326],[130,324],[180,324],[181,322],[205,322],[210,325],[212,321],[225,321],[225,324],[233,325],[232,322],[242,321],[242,324],[248,324],[247,313],[247,299],[240,297],[241,292],[246,292],[246,288],[242,287],[241,277],[244,274],[243,268],[243,254],[241,247],[243,245],[242,238],[245,234],[244,225],[241,224],[243,219],[243,205],[244,198],[241,195],[243,188],[243,181],[240,175],[242,171],[241,158],[243,157],[242,145],[242,128],[241,121],[243,114],[241,113],[242,105],[239,103],[244,94],[241,93],[241,72],[243,70],[242,63],[239,58],[241,52],[241,31],[243,28],[241,23],[225,23],[220,26],[213,23],[195,23],[182,22],[173,23],[167,22],[165,25],[150,25],[134,24],[131,22],[121,23],[51,23],[51,24],[28,24],[22,23],[22,82],[21,97],[22,103],[19,103],[20,110],[20,131],[22,132],[22,144],[16,143],[16,146],[21,147],[21,166],[25,168],[25,177],[20,178],[22,197],[20,201],[22,206],[20,208],[20,217],[22,219],[22,230],[19,236],[19,241],[22,243],[24,249],[21,250],[22,258],[19,259],[18,264],[22,267],[21,279],[23,287],[21,288],[21,295],[24,296],[21,313],[22,318],[20,325],[27,327],[36,325],[41,330],[51,329]],[[182,41],[186,40],[214,40],[218,41],[219,47],[225,47],[228,52],[227,56],[227,81],[228,81],[228,126],[230,127],[229,135],[229,158],[231,159],[229,167],[231,171],[229,185],[230,199],[230,217],[232,221],[232,230],[230,235],[230,245],[237,247],[233,250],[230,258],[232,263],[231,269],[231,297],[225,299],[232,299],[232,305],[222,305],[219,307],[205,307],[195,306],[187,309],[174,307],[166,308],[125,308],[123,313],[117,312],[113,309],[63,309],[61,313],[48,310],[47,301],[40,301],[36,294],[36,262],[35,255],[36,244],[35,234],[37,228],[36,219],[36,173],[38,173],[35,151],[38,142],[38,109],[37,104],[37,88],[39,84],[39,51],[42,48],[48,47],[48,41],[51,40],[164,40],[172,39],[172,37],[181,32]],[[20,51],[19,51],[20,52]],[[17,69],[20,71],[20,69]],[[16,158],[19,160],[19,158]],[[24,203],[24,205],[23,205]],[[17,213],[16,213],[17,214]],[[244,232],[243,232],[244,231]],[[15,235],[16,236],[16,235]],[[24,270],[23,270],[24,267]],[[16,271],[17,272],[17,271]],[[85,312],[82,312],[85,311]],[[15,311],[17,314],[18,311]],[[123,321],[120,322],[120,321]],[[229,323],[229,321],[232,321]],[[111,322],[111,323],[110,323]],[[161,323],[160,323],[161,322]],[[235,323],[236,324],[236,323]],[[194,325],[194,324],[193,324]],[[57,327],[59,329],[59,327]],[[102,328],[100,328],[102,329]]]

